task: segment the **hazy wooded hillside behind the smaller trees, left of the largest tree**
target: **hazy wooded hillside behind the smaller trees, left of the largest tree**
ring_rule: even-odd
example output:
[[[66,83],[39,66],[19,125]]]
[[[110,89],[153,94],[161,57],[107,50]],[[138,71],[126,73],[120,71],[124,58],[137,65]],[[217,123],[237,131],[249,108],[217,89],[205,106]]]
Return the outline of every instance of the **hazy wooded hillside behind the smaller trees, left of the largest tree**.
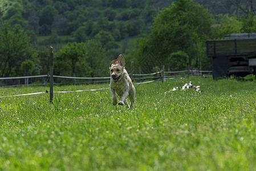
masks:
[[[162,7],[169,5],[168,0],[3,0],[0,2],[0,16],[2,27],[19,26],[26,32],[27,43],[30,43],[36,51],[36,53],[31,52],[33,57],[26,57],[35,63],[32,72],[35,75],[48,72],[47,48],[50,45],[54,47],[55,52],[58,52],[66,45],[70,46],[69,42],[76,42],[78,45],[83,43],[88,47],[92,47],[91,43],[94,42],[96,44],[94,49],[100,48],[101,63],[104,61],[107,64],[116,55],[125,54],[131,38],[137,39],[147,35],[151,30],[153,16]],[[10,34],[14,33],[10,32]],[[88,52],[84,55],[93,58]],[[58,56],[56,54],[56,58],[59,58]],[[87,56],[84,59],[88,59]],[[1,76],[24,75],[22,71],[19,71],[21,62],[18,59],[15,65],[9,64],[8,60],[9,56],[1,60],[3,61],[1,66],[9,70],[8,72],[2,71]],[[74,75],[74,68],[72,69],[69,64],[60,63],[58,60],[55,61],[56,66],[60,66],[54,70],[56,74]],[[101,66],[100,64],[96,67]],[[100,68],[93,67],[91,70],[93,70],[90,71],[92,73],[97,72],[97,75],[100,73]],[[82,75],[82,73],[83,76],[94,75],[80,72],[80,70],[77,72],[80,74],[76,75]]]

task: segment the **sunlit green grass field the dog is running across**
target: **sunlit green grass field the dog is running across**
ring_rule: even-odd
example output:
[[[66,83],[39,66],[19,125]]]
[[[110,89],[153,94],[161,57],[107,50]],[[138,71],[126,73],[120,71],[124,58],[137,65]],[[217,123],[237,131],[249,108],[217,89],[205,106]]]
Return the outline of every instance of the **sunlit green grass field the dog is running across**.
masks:
[[[193,89],[169,91],[192,80]],[[54,91],[108,84],[61,86]],[[108,89],[0,98],[0,170],[255,170],[255,81],[136,84],[132,110]],[[48,87],[0,88],[0,96]]]

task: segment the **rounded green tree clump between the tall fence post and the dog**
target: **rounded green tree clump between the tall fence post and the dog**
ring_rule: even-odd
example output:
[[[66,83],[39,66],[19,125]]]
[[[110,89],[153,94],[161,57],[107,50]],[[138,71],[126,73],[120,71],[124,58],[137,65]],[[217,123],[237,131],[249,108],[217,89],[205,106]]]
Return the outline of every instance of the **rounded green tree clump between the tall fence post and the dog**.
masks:
[[[56,53],[55,73],[72,76],[105,76],[105,50],[97,40],[68,43]]]

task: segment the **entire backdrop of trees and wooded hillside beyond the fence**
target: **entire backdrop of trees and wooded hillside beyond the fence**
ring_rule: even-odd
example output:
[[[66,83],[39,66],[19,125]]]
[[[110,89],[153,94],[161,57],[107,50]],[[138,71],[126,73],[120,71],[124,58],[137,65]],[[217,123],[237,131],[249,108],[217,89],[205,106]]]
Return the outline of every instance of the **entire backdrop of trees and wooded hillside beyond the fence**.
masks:
[[[256,32],[255,10],[245,0],[2,0],[0,77],[47,74],[50,45],[55,75],[105,76],[119,54],[128,68],[147,62],[143,72],[210,70],[205,40]]]

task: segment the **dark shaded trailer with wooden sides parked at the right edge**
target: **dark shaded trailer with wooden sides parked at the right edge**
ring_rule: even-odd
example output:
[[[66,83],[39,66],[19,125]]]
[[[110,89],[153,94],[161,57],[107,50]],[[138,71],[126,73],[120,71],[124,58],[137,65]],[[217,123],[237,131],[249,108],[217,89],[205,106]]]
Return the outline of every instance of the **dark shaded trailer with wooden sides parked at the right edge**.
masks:
[[[246,76],[256,72],[256,33],[231,34],[222,40],[206,40],[213,58],[213,78]]]

